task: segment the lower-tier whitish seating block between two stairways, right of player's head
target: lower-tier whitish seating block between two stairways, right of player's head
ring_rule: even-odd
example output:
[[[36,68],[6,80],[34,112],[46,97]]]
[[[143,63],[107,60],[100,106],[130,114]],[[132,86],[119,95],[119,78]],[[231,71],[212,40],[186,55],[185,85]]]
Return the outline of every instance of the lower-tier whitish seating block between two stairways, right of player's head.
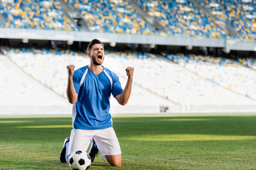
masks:
[[[128,65],[134,67],[133,82],[181,105],[248,105],[253,100],[198,77],[173,62],[153,54],[105,52],[105,64],[121,77]]]

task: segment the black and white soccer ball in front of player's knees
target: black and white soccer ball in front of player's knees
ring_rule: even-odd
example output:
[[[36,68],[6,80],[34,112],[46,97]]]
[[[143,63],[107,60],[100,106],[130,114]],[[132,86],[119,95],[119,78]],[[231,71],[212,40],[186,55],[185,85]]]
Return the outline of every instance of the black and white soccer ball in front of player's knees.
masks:
[[[78,150],[70,155],[68,163],[72,170],[87,170],[91,159],[88,153]]]

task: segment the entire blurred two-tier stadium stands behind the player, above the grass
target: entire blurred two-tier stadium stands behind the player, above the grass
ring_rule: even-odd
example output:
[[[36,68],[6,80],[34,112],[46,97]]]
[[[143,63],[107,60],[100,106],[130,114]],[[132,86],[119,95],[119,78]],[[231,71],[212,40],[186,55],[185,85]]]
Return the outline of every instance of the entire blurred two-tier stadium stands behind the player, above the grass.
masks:
[[[256,112],[256,0],[0,0],[0,115],[71,114],[94,38],[123,88],[135,68],[112,113]]]

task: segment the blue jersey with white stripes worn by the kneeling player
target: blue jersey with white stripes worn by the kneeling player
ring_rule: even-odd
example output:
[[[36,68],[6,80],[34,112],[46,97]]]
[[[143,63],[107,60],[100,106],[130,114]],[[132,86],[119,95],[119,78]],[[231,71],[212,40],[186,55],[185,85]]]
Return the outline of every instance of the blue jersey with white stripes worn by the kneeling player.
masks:
[[[111,93],[115,97],[123,91],[118,76],[105,67],[96,75],[84,66],[74,71],[73,83],[78,94],[73,105],[73,128],[97,130],[112,127],[109,113]]]

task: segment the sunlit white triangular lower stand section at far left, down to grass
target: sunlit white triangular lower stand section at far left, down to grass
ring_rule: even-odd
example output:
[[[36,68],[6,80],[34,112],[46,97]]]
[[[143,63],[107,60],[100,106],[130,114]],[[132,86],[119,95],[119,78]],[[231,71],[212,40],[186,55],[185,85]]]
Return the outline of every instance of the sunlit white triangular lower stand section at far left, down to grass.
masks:
[[[72,105],[0,53],[0,115],[70,114]]]

